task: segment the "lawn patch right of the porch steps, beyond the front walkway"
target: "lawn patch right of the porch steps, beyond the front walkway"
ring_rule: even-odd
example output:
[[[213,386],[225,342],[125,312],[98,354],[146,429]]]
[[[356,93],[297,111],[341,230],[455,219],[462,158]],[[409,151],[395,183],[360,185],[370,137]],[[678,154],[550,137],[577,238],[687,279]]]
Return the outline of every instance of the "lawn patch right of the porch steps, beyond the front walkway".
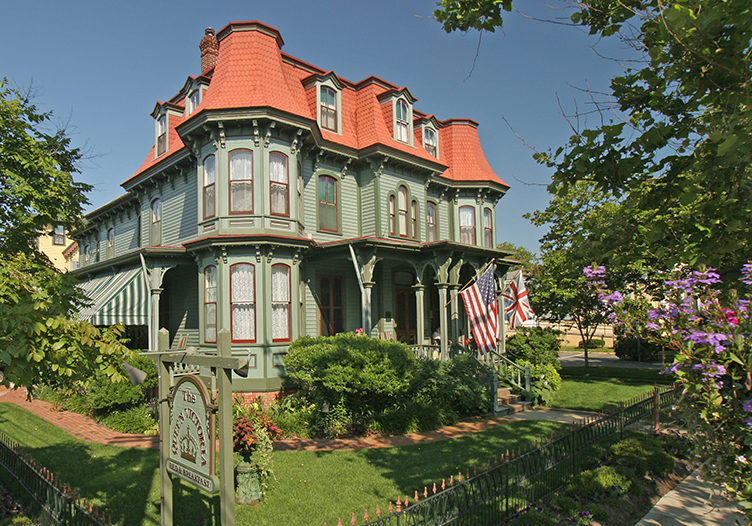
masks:
[[[619,402],[670,384],[671,377],[652,369],[625,367],[563,367],[562,386],[548,404],[560,409],[608,411]]]

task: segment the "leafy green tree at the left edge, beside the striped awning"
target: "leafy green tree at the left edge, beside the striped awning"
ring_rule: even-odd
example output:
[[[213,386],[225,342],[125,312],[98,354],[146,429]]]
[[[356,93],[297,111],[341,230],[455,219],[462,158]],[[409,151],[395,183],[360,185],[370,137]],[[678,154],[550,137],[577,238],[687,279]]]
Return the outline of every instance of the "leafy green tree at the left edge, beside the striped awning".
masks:
[[[4,385],[67,384],[132,353],[122,327],[99,329],[70,316],[84,298],[75,279],[52,268],[36,240],[50,225],[79,224],[89,186],[73,180],[81,152],[50,114],[0,82],[0,372]]]

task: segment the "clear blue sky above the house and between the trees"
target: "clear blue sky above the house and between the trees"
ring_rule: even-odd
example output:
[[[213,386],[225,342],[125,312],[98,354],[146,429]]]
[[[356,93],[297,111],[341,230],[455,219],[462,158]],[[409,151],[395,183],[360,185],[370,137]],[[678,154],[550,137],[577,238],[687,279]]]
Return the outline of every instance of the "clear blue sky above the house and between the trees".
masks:
[[[583,91],[607,90],[626,56],[618,41],[535,20],[567,16],[541,0],[515,2],[503,30],[447,35],[431,17],[435,0],[274,2],[182,0],[24,0],[5,2],[0,17],[0,77],[37,90],[36,102],[68,123],[74,145],[90,158],[78,179],[94,185],[89,209],[122,193],[120,183],[146,158],[150,116],[188,75],[200,73],[198,43],[206,27],[259,20],[278,28],[283,51],[351,81],[376,75],[407,86],[415,107],[439,119],[480,123],[491,167],[511,189],[499,202],[497,238],[537,251],[544,233],[522,215],[544,208],[551,170],[520,140],[545,151],[565,144],[572,114],[590,108]],[[532,17],[532,18],[531,18]],[[469,75],[469,78],[468,78]],[[506,122],[505,122],[506,120]],[[507,122],[509,124],[507,124]],[[590,122],[580,119],[580,127]]]

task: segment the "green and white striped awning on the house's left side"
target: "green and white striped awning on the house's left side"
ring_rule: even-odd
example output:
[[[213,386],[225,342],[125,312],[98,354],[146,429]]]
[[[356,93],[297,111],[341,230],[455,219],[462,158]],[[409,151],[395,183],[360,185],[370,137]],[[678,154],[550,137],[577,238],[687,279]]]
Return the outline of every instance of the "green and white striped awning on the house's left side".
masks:
[[[149,291],[136,267],[81,284],[91,304],[78,317],[93,325],[148,325]]]

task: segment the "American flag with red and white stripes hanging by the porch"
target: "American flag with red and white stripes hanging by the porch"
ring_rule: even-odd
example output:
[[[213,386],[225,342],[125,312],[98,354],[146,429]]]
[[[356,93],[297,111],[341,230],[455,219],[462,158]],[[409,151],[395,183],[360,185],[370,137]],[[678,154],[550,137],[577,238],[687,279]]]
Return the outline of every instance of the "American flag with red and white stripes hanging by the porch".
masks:
[[[496,349],[499,339],[499,305],[496,302],[493,264],[472,287],[462,291],[470,328],[481,355]]]

